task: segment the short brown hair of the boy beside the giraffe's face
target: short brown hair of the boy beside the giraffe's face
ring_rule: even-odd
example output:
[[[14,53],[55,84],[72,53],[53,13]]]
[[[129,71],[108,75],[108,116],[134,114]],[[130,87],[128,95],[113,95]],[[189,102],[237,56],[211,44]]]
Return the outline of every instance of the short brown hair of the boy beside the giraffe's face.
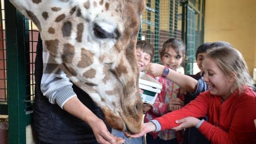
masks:
[[[153,61],[154,59],[154,47],[152,46],[152,44],[150,44],[148,41],[137,41],[136,44],[136,49],[141,49],[143,53],[147,53],[151,56],[150,61]]]

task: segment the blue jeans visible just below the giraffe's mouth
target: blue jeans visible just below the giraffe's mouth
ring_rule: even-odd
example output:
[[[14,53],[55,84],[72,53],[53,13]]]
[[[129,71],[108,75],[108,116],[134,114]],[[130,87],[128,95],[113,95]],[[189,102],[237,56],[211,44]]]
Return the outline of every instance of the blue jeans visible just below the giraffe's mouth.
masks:
[[[145,143],[144,136],[142,136],[140,138],[126,138],[126,136],[124,135],[124,132],[113,129],[113,128],[112,128],[111,134],[125,139],[124,144],[144,144]]]

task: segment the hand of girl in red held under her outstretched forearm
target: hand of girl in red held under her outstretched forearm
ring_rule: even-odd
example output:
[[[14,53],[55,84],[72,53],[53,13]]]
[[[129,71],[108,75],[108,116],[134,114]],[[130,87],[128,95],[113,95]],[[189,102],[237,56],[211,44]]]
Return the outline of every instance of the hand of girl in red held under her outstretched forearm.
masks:
[[[195,127],[199,122],[200,120],[195,117],[191,117],[191,116],[185,117],[183,119],[175,120],[175,123],[180,125],[172,129],[178,131],[185,128]]]

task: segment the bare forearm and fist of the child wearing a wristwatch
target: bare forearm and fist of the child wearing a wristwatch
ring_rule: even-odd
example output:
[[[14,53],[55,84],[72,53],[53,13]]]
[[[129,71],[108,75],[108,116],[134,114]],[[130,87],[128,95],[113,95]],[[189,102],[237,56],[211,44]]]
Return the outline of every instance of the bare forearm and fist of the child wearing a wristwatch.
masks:
[[[148,72],[154,76],[161,76],[163,69],[165,69],[165,66],[158,63],[150,63],[147,67]],[[169,69],[169,74],[166,78],[188,92],[195,92],[197,89],[197,80],[171,69]]]

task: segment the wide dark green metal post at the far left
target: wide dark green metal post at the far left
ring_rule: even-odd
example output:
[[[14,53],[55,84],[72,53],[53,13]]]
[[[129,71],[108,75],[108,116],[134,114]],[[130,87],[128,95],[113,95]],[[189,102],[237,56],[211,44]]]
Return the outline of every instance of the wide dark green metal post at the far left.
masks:
[[[5,2],[6,63],[9,115],[9,143],[26,143],[25,113],[25,59],[23,15],[9,2]]]

